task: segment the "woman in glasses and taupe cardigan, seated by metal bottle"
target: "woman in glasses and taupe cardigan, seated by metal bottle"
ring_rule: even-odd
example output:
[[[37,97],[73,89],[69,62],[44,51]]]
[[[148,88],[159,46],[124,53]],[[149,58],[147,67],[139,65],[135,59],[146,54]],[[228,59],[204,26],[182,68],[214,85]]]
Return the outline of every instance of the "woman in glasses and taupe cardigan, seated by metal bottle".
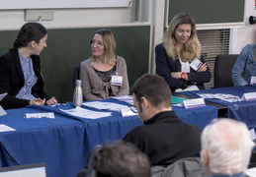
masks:
[[[80,65],[86,100],[128,95],[127,63],[116,55],[116,40],[109,29],[97,30],[91,38],[92,56]]]

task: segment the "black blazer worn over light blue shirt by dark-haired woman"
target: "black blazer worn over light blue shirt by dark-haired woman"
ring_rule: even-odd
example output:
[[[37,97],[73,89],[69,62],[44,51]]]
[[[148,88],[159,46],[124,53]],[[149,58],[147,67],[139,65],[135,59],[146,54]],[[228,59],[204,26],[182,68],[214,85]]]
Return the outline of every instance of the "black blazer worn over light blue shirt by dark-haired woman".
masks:
[[[37,84],[32,88],[35,97],[50,97],[43,90],[43,77],[41,75],[41,59],[38,55],[31,56],[34,72],[38,77]],[[18,54],[18,49],[9,51],[0,57],[0,93],[8,94],[0,101],[4,109],[25,107],[30,100],[16,98],[15,95],[24,87],[25,79]]]

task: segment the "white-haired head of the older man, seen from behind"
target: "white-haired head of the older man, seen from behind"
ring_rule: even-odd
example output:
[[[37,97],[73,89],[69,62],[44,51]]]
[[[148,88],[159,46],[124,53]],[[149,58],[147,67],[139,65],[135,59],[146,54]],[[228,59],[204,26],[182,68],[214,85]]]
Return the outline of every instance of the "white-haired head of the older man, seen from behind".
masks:
[[[202,158],[209,174],[234,174],[247,169],[254,143],[246,125],[217,119],[202,133]]]

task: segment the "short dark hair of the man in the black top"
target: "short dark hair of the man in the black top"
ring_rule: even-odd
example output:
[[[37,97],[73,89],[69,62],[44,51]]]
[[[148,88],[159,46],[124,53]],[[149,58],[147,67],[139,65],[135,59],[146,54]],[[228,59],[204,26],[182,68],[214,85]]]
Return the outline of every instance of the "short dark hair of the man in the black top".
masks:
[[[154,107],[171,106],[171,89],[167,83],[158,75],[144,74],[136,80],[130,89],[140,103],[141,96],[146,97]]]

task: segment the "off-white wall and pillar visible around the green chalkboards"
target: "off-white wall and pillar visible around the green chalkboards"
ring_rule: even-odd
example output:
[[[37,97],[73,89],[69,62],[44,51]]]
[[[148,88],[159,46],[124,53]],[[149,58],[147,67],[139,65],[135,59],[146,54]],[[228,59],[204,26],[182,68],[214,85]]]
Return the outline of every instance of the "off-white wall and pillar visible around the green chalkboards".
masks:
[[[149,72],[154,72],[154,46],[162,41],[166,2],[139,0],[132,1],[132,7],[128,8],[55,9],[53,21],[43,21],[42,24],[47,29],[59,29],[130,25],[135,21],[150,23],[153,31]],[[256,42],[256,25],[248,23],[250,16],[256,16],[255,0],[245,2],[244,27],[231,29],[230,53],[239,53],[245,44]],[[25,23],[25,10],[0,10],[0,30],[20,29]]]

